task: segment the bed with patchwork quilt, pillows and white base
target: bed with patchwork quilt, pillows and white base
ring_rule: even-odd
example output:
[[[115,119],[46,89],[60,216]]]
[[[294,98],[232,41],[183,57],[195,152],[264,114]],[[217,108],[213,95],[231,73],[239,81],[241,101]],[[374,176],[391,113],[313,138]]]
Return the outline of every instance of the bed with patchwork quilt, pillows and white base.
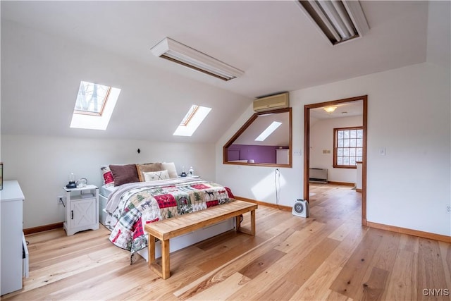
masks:
[[[132,164],[128,165],[130,171],[133,171]],[[115,170],[115,167],[109,167]],[[148,177],[146,180],[144,176],[149,176],[146,173],[154,176],[154,173],[159,171],[142,171],[138,165],[136,170],[137,173],[142,173],[142,180],[138,176],[138,180],[132,177],[123,183],[116,180],[114,173],[111,173],[115,180],[114,185],[111,185],[111,179],[106,180],[99,191],[99,220],[111,231],[109,240],[114,245],[130,251],[131,262],[134,261],[135,254],[140,254],[148,260],[147,235],[143,230],[146,223],[234,201],[230,189],[218,183],[202,178],[179,178],[176,173],[174,176],[173,172],[172,177],[159,175],[156,180],[149,180]],[[108,172],[108,168],[102,170],[104,175],[105,172]],[[171,252],[232,230],[234,225],[233,219],[230,219],[175,238],[171,242]],[[156,244],[156,256],[159,257],[161,247],[159,242]]]

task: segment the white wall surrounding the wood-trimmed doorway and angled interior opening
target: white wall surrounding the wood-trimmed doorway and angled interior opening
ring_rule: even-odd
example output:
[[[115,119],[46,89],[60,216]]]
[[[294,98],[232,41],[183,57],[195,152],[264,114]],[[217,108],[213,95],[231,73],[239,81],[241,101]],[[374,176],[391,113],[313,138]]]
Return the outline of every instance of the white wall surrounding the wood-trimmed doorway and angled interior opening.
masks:
[[[290,92],[293,149],[302,149],[304,105],[368,95],[367,220],[451,235],[450,70],[431,63]],[[275,203],[274,168],[222,164],[222,147],[252,115],[249,106],[216,144],[216,178],[236,195]],[[386,155],[378,149],[384,147]],[[280,204],[302,197],[303,157],[280,168]]]

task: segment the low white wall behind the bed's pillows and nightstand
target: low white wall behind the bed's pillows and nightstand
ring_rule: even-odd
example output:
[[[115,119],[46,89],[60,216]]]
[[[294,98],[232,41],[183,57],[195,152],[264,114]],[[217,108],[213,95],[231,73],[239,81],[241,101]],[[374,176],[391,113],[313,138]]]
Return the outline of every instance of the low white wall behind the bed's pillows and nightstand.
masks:
[[[206,180],[215,176],[212,144],[1,135],[1,161],[4,180],[18,180],[25,195],[23,228],[64,220],[56,197],[63,195],[70,172],[100,185],[102,164],[173,161],[178,173],[182,166],[186,170],[193,166],[194,173]]]

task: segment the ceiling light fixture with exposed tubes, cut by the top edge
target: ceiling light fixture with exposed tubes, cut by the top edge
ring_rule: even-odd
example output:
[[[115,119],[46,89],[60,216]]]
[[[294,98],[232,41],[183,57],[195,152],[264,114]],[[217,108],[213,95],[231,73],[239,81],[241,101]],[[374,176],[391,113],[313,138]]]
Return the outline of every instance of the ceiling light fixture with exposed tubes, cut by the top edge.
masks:
[[[333,45],[362,37],[369,30],[359,1],[299,0],[297,3]]]

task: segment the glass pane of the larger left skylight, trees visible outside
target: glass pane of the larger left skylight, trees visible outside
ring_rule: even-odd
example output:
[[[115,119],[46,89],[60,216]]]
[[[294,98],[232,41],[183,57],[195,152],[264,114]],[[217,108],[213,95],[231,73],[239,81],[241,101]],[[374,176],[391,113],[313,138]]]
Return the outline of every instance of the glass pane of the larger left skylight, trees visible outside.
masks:
[[[101,114],[108,99],[111,87],[94,84],[92,82],[80,82],[77,101],[75,102],[76,113]]]

